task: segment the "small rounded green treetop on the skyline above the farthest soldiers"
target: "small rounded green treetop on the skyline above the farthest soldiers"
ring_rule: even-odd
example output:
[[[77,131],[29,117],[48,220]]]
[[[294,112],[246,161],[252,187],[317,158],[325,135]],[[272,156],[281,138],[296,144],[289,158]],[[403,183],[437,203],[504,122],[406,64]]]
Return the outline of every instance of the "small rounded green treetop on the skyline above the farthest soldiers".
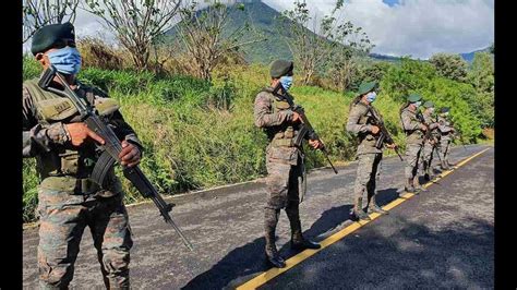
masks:
[[[467,62],[459,55],[436,53],[429,62],[436,68],[436,72],[447,78],[465,82],[467,78]]]

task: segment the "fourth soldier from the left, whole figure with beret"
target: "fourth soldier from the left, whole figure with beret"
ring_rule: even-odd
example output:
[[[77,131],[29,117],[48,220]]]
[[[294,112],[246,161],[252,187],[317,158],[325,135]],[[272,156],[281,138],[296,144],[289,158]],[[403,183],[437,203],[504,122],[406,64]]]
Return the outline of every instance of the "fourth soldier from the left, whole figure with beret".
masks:
[[[405,190],[418,194],[423,191],[417,177],[418,161],[423,146],[423,137],[426,126],[417,117],[418,108],[422,104],[420,95],[411,94],[408,102],[400,108],[402,129],[408,136],[406,140],[406,186]]]

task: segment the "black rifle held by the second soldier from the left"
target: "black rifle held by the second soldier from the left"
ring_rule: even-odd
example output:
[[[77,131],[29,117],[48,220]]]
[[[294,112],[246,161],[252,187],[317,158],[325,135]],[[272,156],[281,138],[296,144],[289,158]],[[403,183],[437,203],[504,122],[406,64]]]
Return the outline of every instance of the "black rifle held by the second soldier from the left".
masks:
[[[284,95],[279,94],[280,88],[284,92]],[[278,84],[275,86],[275,88],[273,88],[273,95],[278,97],[280,100],[286,100],[289,104],[290,109],[292,111],[297,112],[298,114],[300,114],[300,118],[302,119],[302,124],[301,124],[301,128],[300,128],[300,132],[298,133],[297,137],[294,138],[294,144],[297,146],[300,146],[301,142],[303,141],[303,137],[305,136],[305,134],[309,134],[309,137],[311,140],[320,141],[320,143],[322,143],[322,145],[323,145],[323,147],[321,147],[320,149],[322,150],[323,155],[325,156],[325,158],[327,159],[327,161],[330,165],[332,169],[334,170],[334,173],[337,174],[338,172],[337,172],[336,168],[332,164],[330,158],[328,158],[328,152],[325,147],[325,144],[322,142],[320,136],[317,136],[316,132],[312,128],[311,123],[309,122],[309,119],[305,116],[305,111],[303,110],[303,108],[301,106],[294,104],[294,100],[293,100],[292,96],[288,92],[286,92],[286,89],[284,89],[280,82],[278,82]]]

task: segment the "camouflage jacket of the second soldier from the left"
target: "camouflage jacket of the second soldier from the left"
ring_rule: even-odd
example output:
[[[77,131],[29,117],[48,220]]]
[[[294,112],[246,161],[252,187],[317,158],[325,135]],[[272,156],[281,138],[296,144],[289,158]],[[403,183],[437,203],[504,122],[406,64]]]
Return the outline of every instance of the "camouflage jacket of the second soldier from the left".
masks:
[[[254,122],[264,129],[269,140],[266,161],[297,165],[301,148],[292,144],[299,133],[299,124],[292,123],[292,111],[287,101],[279,101],[266,87],[255,97]]]

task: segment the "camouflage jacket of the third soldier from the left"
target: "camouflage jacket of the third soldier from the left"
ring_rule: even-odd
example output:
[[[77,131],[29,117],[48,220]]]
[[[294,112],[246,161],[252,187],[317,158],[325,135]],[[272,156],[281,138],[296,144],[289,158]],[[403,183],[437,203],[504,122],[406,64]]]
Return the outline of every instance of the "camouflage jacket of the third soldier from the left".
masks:
[[[377,118],[382,118],[377,110],[370,106]],[[368,153],[382,153],[382,149],[375,147],[378,134],[373,135],[372,132],[372,112],[369,111],[369,106],[362,101],[357,102],[350,109],[348,114],[347,131],[359,137],[359,146],[357,155]],[[381,119],[382,120],[382,119]]]

